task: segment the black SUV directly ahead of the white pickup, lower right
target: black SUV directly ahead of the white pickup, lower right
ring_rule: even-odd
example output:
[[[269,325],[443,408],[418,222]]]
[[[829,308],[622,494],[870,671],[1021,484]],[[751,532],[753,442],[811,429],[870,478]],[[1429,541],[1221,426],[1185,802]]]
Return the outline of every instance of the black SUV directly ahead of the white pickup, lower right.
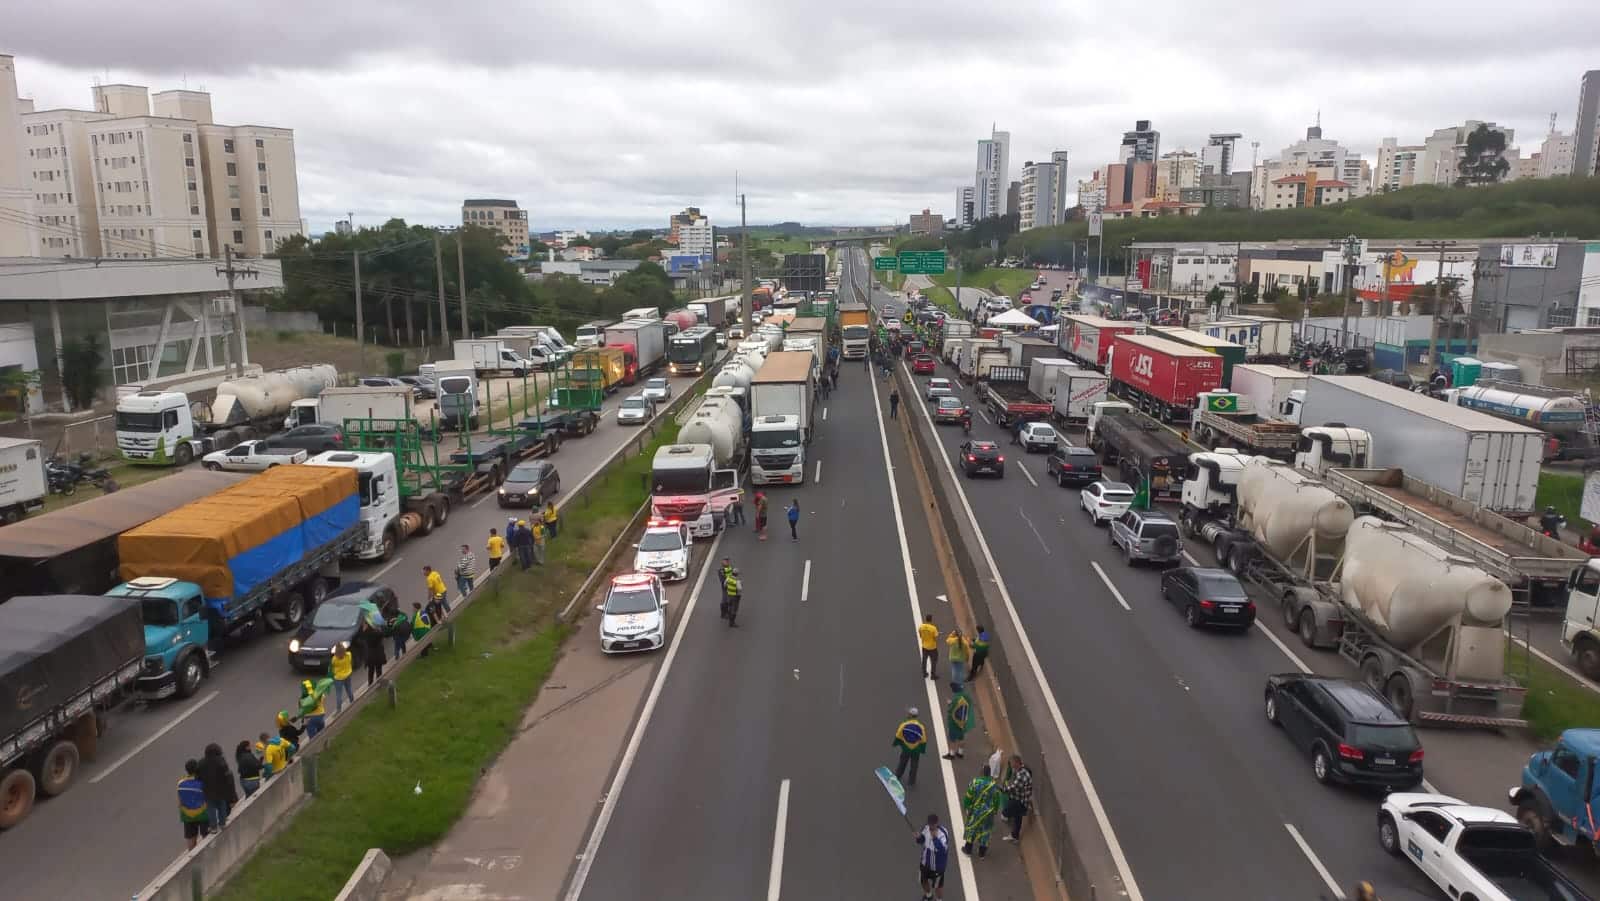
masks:
[[[1363,682],[1285,672],[1267,677],[1267,722],[1310,754],[1318,783],[1411,791],[1422,784],[1416,730]]]

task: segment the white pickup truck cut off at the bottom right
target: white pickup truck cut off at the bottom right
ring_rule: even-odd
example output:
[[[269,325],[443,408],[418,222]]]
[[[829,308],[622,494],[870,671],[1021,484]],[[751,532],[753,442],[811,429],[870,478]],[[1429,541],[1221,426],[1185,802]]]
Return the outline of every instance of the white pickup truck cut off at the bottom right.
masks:
[[[1378,843],[1406,856],[1458,901],[1589,898],[1539,855],[1531,831],[1501,810],[1437,794],[1397,792],[1378,811]]]

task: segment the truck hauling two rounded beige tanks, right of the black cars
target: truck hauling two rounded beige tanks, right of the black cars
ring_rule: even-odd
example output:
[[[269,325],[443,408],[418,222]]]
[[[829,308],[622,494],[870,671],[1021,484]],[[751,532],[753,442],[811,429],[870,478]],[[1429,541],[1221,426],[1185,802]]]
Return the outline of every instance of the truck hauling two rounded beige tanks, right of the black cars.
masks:
[[[1195,456],[1184,528],[1280,605],[1306,647],[1336,648],[1414,723],[1526,725],[1526,690],[1506,677],[1506,583],[1267,458],[1243,461],[1227,503]]]

